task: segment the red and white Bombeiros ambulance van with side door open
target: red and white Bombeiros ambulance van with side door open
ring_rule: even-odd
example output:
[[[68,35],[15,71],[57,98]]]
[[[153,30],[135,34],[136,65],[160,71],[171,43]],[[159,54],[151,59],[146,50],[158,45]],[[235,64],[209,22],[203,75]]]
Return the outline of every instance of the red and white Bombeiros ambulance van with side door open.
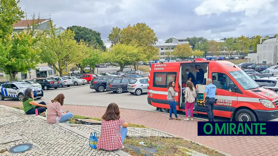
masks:
[[[204,71],[204,81],[198,84],[197,100],[194,113],[207,114],[202,103],[202,95],[208,78],[213,80],[217,91],[214,116],[228,117],[230,121],[269,121],[278,118],[278,94],[259,86],[241,68],[229,61],[206,60],[198,58],[191,61],[159,62],[150,64],[148,76],[148,103],[160,110],[169,112],[167,101],[168,83],[175,81],[176,107],[185,111],[184,94],[182,91],[187,80],[186,69],[192,70],[200,65]],[[183,86],[183,87],[182,87]]]

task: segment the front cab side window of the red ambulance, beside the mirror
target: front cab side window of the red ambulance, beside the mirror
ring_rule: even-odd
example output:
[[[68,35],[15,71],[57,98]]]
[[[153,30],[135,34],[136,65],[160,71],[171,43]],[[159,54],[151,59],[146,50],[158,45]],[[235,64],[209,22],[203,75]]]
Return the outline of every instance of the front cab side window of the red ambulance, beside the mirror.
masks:
[[[213,84],[219,89],[229,90],[230,83],[233,83],[226,74],[220,72],[213,72],[212,78]]]

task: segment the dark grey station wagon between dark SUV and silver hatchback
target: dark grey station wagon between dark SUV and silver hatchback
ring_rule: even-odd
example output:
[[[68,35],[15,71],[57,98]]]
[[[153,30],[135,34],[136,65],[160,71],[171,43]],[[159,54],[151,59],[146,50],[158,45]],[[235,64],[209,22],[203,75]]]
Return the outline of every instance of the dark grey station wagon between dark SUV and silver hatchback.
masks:
[[[126,92],[127,85],[131,80],[133,79],[129,77],[117,77],[117,78],[109,79],[106,83],[106,90],[113,91],[118,94]]]

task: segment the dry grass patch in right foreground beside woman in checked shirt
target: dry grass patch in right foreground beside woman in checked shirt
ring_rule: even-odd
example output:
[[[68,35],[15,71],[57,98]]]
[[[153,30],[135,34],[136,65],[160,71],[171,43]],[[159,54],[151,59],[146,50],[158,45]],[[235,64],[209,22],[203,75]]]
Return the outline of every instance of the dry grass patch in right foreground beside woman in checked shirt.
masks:
[[[157,153],[150,153],[147,151],[144,151],[143,145],[140,145],[139,142],[145,142],[144,145],[157,150]],[[189,142],[187,140],[184,140],[183,138],[165,138],[165,137],[127,137],[124,140],[124,149],[123,151],[133,155],[133,156],[144,156],[145,154],[153,154],[154,156],[180,156],[180,155],[188,155],[185,152],[189,152],[188,149],[194,150],[197,152],[200,152],[202,154],[207,154],[210,156],[224,156],[224,154],[221,154],[217,152],[216,150],[200,146],[196,143]],[[133,147],[140,147],[142,150],[140,153],[136,153],[133,151],[133,149],[129,148],[126,145],[130,145]],[[180,147],[183,148],[180,148]]]

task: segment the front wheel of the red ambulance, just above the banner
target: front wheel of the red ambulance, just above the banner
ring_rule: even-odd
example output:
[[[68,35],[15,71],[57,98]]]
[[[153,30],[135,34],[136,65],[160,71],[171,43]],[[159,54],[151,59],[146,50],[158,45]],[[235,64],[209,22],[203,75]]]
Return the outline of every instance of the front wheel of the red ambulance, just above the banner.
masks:
[[[256,115],[249,109],[240,109],[235,115],[236,121],[257,121]]]

